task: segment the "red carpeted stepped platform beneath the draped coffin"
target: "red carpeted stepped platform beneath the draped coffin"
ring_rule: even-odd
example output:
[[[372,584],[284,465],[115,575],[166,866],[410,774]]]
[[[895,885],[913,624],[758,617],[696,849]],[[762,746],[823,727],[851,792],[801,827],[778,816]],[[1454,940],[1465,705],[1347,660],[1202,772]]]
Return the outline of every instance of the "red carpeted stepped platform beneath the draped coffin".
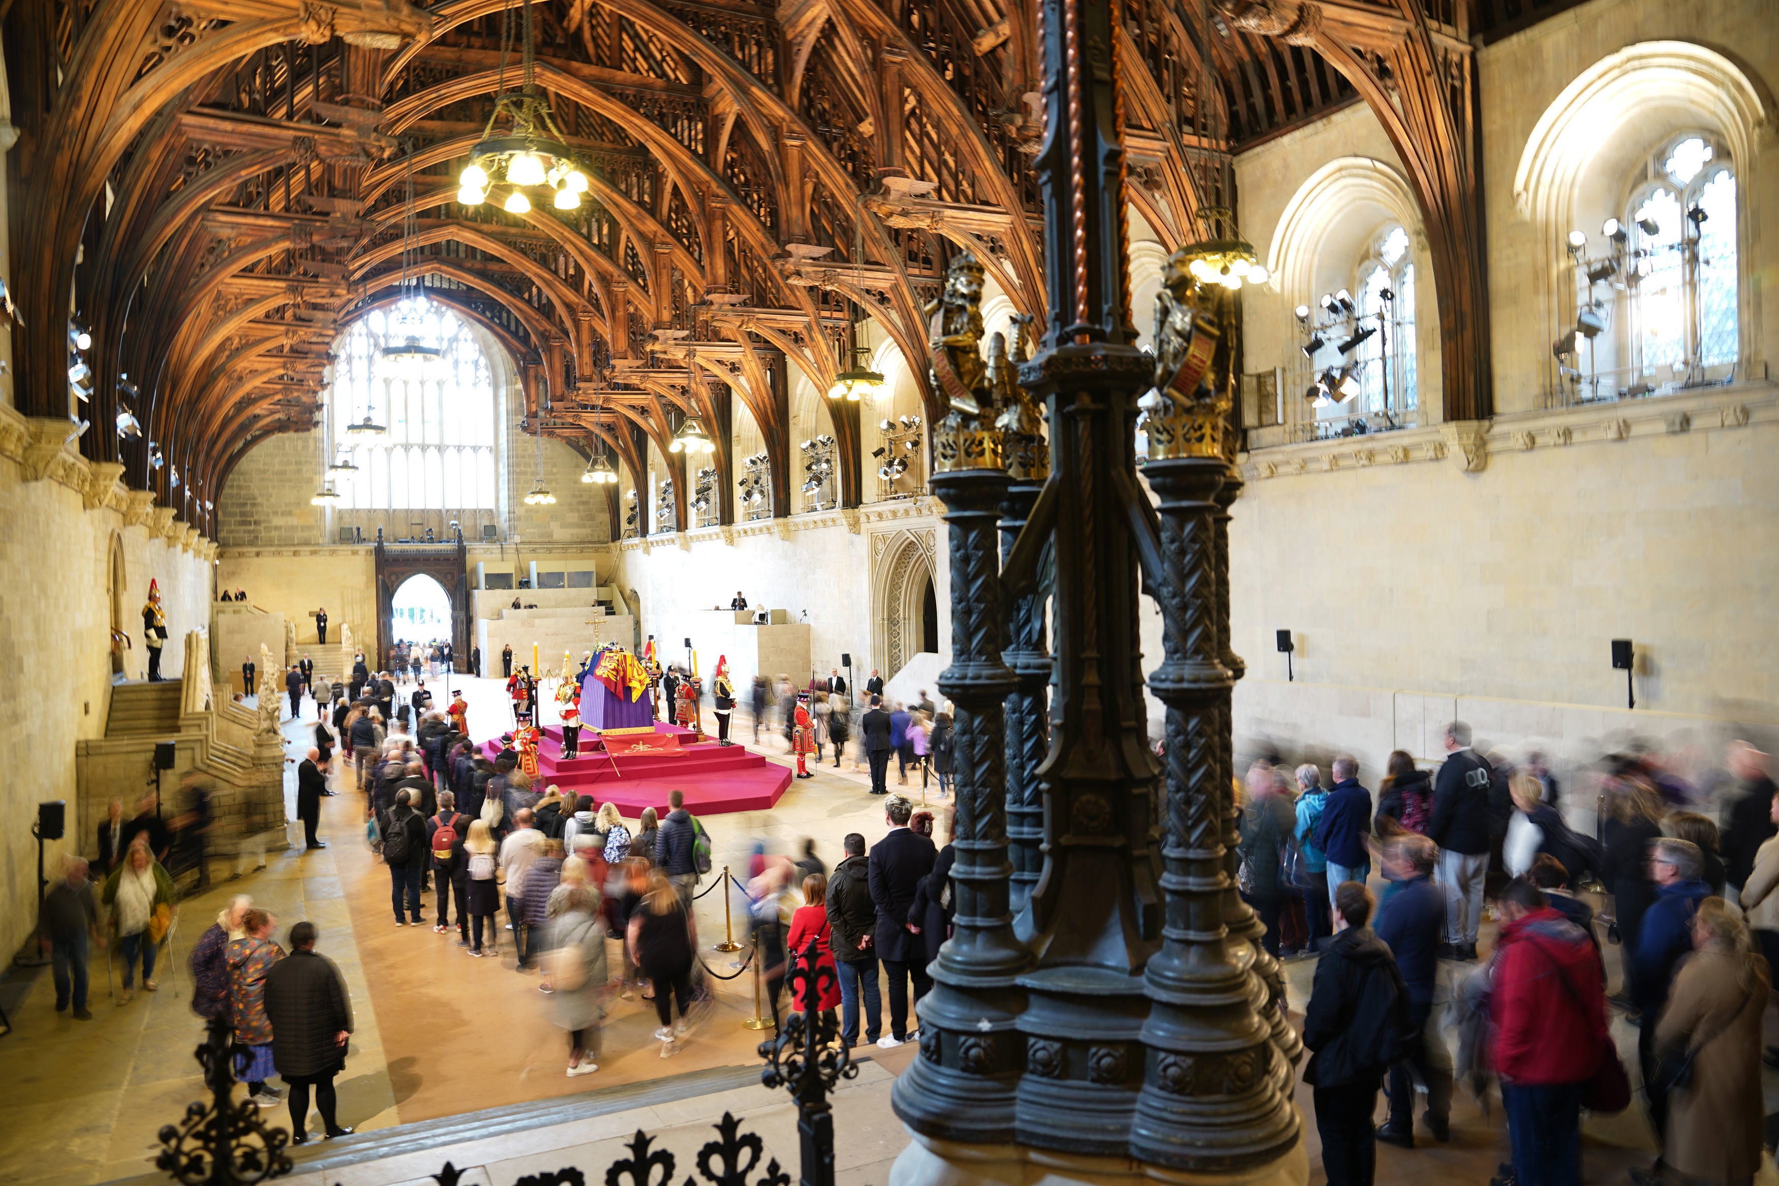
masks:
[[[576,795],[592,795],[596,802],[614,802],[617,811],[635,820],[644,807],[667,814],[667,793],[685,791],[685,805],[692,814],[722,814],[728,811],[765,811],[790,786],[792,770],[769,763],[745,745],[722,747],[715,741],[692,741],[692,731],[680,725],[656,724],[656,733],[680,738],[681,752],[674,756],[619,756],[614,763],[603,749],[591,749],[591,729],[580,733],[580,757],[562,757],[562,729],[544,727],[537,747],[539,789],[555,784]],[[482,745],[489,759],[500,752],[500,738]],[[614,768],[616,766],[616,768]]]

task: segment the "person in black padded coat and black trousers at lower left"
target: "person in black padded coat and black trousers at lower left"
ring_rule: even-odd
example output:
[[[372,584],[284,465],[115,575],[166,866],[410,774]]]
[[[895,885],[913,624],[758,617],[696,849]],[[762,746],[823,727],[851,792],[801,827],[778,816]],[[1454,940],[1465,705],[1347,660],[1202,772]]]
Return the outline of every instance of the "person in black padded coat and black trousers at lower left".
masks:
[[[290,1140],[310,1140],[310,1092],[327,1140],[352,1129],[340,1124],[334,1076],[345,1069],[352,1038],[352,994],[340,969],[315,951],[315,923],[290,928],[290,955],[265,973],[265,1015],[272,1026],[272,1065],[290,1086]]]

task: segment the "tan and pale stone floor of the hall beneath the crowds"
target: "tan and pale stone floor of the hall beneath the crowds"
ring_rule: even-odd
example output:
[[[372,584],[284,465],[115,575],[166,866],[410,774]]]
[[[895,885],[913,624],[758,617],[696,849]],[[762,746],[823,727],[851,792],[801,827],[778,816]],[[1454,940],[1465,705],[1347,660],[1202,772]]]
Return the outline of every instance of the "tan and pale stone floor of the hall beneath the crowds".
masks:
[[[477,738],[507,727],[511,717],[496,681],[454,679],[454,686],[457,683],[466,686]],[[306,704],[304,720],[285,725],[292,759],[286,791],[292,797],[294,763],[308,745],[311,720],[313,706]],[[737,736],[751,740],[751,727],[738,724]],[[761,740],[774,761],[788,761],[781,738],[761,731]],[[884,832],[881,805],[865,795],[865,784],[866,777],[850,766],[834,772],[824,765],[817,779],[793,781],[770,813],[708,820],[717,868],[745,869],[756,845],[795,852],[804,837],[813,837],[817,853],[833,866],[845,832],[863,832],[868,841]],[[918,779],[909,789],[918,798]],[[936,788],[930,789],[938,802]],[[568,1163],[598,1179],[598,1170],[617,1156],[637,1127],[658,1133],[680,1156],[685,1172],[688,1158],[710,1140],[708,1126],[726,1110],[760,1131],[769,1152],[795,1174],[795,1117],[781,1092],[728,1086],[669,1102],[626,1102],[630,1092],[674,1076],[692,1072],[694,1078],[713,1076],[712,1081],[733,1083],[735,1074],[760,1065],[756,1046],[761,1035],[742,1026],[754,1014],[751,976],[719,983],[713,1014],[667,1060],[651,1038],[653,1008],[644,1001],[619,1001],[605,1028],[601,1070],[568,1079],[562,1074],[566,1040],[548,1022],[537,980],[514,971],[511,934],[500,934],[502,958],[473,960],[455,948],[454,935],[436,935],[431,925],[393,926],[388,873],[363,843],[363,798],[352,791],[342,788],[338,797],[324,800],[322,834],[329,848],[272,852],[265,869],[238,882],[226,880],[228,866],[217,862],[217,877],[224,880],[185,902],[174,932],[176,958],[173,967],[162,966],[158,992],[139,992],[128,1006],[112,1006],[100,957],[93,994],[96,1021],[73,1022],[53,1012],[46,969],[34,974],[12,1012],[14,1031],[0,1038],[0,1115],[5,1117],[0,1124],[0,1182],[85,1186],[137,1177],[151,1168],[158,1127],[176,1120],[183,1106],[201,1095],[197,1065],[190,1056],[197,1022],[189,1010],[185,953],[228,894],[237,891],[253,894],[256,903],[278,916],[279,937],[301,918],[315,921],[322,932],[322,951],[340,966],[352,989],[358,1030],[340,1081],[342,1122],[375,1133],[397,1124],[443,1124],[448,1117],[527,1101],[576,1097],[585,1102],[585,1118],[523,1134],[466,1138],[375,1163],[354,1163],[352,1140],[313,1145],[299,1158],[299,1179],[306,1184],[431,1181],[427,1175],[447,1158],[459,1168],[471,1168],[463,1182],[475,1184],[511,1186],[525,1174]],[[724,934],[726,898],[735,919],[742,919],[742,898],[728,887],[704,894],[697,903],[704,960],[715,974],[729,974],[737,958],[710,950]],[[429,923],[432,912],[434,900],[429,896]],[[738,934],[742,930],[737,928]],[[1614,980],[1615,955],[1617,950],[1608,948]],[[616,967],[616,946],[612,958]],[[1315,962],[1286,967],[1292,1001],[1300,1008]],[[1615,1037],[1621,1049],[1635,1053],[1635,1030],[1621,1021]],[[913,1047],[859,1054],[870,1062],[863,1063],[859,1079],[836,1097],[840,1181],[882,1182],[907,1140],[890,1111],[888,1092],[895,1072],[913,1056]],[[1630,1063],[1635,1065],[1635,1056]],[[607,1102],[601,1104],[601,1099]],[[1311,1184],[1316,1184],[1325,1179],[1308,1088],[1299,1088],[1299,1106],[1306,1117]],[[288,1120],[283,1111],[274,1118],[281,1124]],[[1461,1092],[1452,1127],[1450,1145],[1423,1142],[1413,1152],[1381,1147],[1381,1186],[1485,1182],[1507,1156],[1500,1101],[1473,1101]],[[416,1133],[423,1134],[425,1127]],[[1590,1118],[1585,1140],[1590,1182],[1624,1181],[1624,1168],[1646,1165],[1653,1149],[1637,1108],[1621,1117]],[[308,1168],[311,1165],[313,1170]]]

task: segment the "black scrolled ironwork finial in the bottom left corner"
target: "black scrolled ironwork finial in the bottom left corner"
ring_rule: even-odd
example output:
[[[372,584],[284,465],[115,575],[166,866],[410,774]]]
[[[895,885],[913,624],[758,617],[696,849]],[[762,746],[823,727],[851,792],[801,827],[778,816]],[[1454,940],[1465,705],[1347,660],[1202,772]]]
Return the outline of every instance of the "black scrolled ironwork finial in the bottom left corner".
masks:
[[[210,1102],[192,1101],[180,1124],[160,1129],[155,1166],[185,1186],[251,1186],[290,1174],[290,1133],[260,1122],[260,1110],[235,1099],[235,1030],[213,1017],[196,1051]]]

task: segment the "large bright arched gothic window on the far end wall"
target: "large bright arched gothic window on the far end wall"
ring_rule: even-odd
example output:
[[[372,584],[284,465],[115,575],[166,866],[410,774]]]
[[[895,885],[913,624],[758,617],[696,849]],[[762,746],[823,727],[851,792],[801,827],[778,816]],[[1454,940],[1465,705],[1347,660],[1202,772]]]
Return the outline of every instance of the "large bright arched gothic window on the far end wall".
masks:
[[[439,354],[397,361],[409,336]],[[354,510],[493,510],[498,503],[495,381],[463,318],[432,301],[374,309],[342,338],[329,391],[333,448],[358,466]],[[365,418],[386,429],[366,439]]]

